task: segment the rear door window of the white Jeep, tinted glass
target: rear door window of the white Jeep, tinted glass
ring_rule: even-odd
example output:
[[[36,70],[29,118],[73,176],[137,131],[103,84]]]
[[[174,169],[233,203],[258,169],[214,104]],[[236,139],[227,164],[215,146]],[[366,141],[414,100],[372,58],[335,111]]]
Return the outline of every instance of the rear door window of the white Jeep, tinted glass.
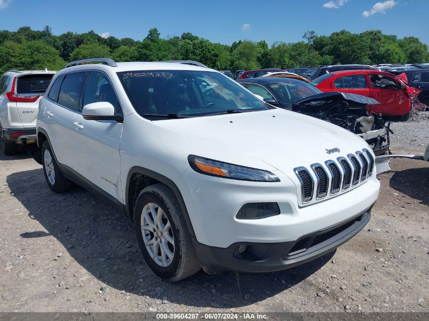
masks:
[[[65,75],[59,91],[58,103],[78,111],[84,78],[85,73]]]

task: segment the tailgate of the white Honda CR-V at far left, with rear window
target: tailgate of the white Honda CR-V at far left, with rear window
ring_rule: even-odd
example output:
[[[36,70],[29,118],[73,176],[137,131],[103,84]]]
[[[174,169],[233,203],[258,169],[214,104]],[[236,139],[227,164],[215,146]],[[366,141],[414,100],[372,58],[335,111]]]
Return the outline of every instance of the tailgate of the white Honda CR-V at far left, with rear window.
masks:
[[[16,108],[24,128],[36,127],[39,100],[45,94],[53,74],[30,74],[16,77]]]

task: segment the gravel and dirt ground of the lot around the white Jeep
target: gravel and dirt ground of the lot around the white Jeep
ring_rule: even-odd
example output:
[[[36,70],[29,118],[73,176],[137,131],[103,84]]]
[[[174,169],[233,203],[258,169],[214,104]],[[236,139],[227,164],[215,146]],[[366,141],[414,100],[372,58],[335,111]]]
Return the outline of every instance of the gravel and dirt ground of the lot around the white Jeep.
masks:
[[[423,152],[393,152],[410,149]],[[120,213],[81,188],[52,193],[34,160],[0,152],[0,311],[427,312],[429,163],[391,168],[370,223],[336,252],[276,273],[171,284],[145,265]]]

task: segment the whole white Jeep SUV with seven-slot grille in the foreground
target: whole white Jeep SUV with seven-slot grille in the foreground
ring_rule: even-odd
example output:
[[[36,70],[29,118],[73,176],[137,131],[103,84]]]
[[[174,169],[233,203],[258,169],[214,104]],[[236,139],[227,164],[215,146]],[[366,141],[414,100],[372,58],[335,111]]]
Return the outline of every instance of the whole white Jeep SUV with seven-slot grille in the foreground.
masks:
[[[49,187],[75,182],[115,204],[172,281],[201,267],[286,269],[368,223],[380,184],[364,140],[195,64],[103,58],[60,70],[37,120]]]

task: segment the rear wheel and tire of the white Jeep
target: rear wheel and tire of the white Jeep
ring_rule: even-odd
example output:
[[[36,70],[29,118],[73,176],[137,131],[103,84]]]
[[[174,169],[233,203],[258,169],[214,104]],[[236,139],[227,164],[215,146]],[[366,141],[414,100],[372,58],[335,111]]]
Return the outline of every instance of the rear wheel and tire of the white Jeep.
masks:
[[[45,140],[42,144],[41,156],[43,172],[49,188],[55,193],[69,191],[72,187],[72,182],[65,178],[59,169],[48,140]]]

